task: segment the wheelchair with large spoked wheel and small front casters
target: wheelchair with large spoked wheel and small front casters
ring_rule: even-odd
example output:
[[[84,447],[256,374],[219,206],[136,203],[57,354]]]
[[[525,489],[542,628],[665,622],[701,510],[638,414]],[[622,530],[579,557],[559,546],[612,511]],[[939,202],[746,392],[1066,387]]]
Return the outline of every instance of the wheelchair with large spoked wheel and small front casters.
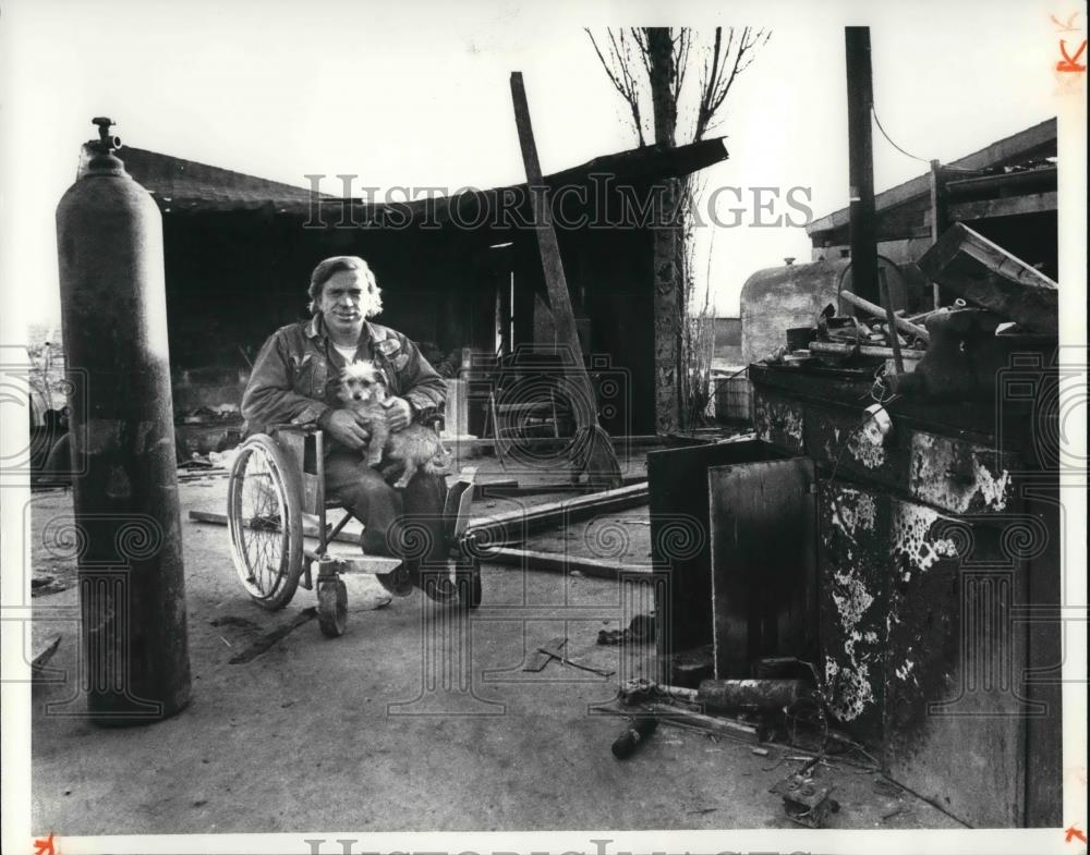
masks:
[[[246,439],[231,466],[227,523],[231,558],[253,601],[275,611],[291,601],[300,585],[316,588],[318,626],[325,636],[337,638],[348,624],[348,588],[341,575],[385,576],[397,572],[402,561],[363,554],[359,546],[340,552],[330,548],[352,515],[326,499],[323,442],[319,428],[304,425],[274,425],[268,433]],[[465,538],[475,474],[472,467],[461,471],[447,489],[443,511],[448,559],[455,565],[453,585],[447,589],[471,609],[482,598],[480,561]],[[336,510],[343,515],[329,523],[327,512]],[[316,540],[317,548],[307,546],[304,537]],[[451,578],[449,567],[424,575],[425,589]]]

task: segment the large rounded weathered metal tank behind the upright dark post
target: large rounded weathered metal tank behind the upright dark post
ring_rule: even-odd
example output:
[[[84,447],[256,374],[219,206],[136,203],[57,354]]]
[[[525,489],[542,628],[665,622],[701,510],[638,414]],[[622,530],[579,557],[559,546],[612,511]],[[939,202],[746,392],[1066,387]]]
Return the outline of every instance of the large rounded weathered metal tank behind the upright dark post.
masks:
[[[741,293],[742,362],[749,365],[786,345],[788,329],[814,326],[818,314],[829,303],[850,314],[850,306],[837,303],[841,285],[851,290],[850,266],[847,258],[786,264],[758,270],[747,279]],[[901,273],[887,277],[894,308],[918,307],[927,283],[920,268],[880,258],[882,267],[895,267]]]

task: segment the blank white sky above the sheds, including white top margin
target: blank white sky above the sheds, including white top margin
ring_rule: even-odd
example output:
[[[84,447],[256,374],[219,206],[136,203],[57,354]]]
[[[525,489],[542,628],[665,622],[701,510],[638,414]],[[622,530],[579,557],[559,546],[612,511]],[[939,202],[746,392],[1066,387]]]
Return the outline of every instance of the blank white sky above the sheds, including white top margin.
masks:
[[[1056,114],[1049,15],[1066,17],[1064,2],[0,2],[3,288],[27,321],[59,322],[53,211],[93,115],[131,145],[302,186],[350,173],[378,187],[487,187],[524,180],[508,88],[520,70],[546,173],[631,148],[583,27],[772,29],[728,98],[729,160],[705,186],[747,200],[753,187],[780,199],[802,187],[796,198],[820,217],[847,204],[845,24],[872,28],[889,134],[950,160]],[[927,169],[877,135],[874,148],[879,190]],[[762,219],[786,212],[780,201]],[[809,260],[800,225],[755,219],[701,230],[698,269],[720,315],[737,314],[755,270]]]

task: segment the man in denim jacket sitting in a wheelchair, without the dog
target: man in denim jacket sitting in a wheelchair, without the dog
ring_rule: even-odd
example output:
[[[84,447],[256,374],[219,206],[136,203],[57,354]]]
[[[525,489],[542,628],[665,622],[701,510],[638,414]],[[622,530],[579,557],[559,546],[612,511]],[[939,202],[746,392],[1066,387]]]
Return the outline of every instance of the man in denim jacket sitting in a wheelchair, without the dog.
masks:
[[[412,341],[368,320],[382,312],[383,302],[362,258],[325,259],[311,274],[308,293],[311,319],[277,330],[254,362],[242,399],[246,435],[269,432],[277,424],[319,427],[326,496],[363,523],[365,553],[404,559],[395,573],[377,576],[379,582],[398,596],[416,585],[433,599],[453,598],[449,579],[426,586],[420,581],[422,564],[439,567],[447,561],[444,476],[421,468],[403,489],[392,487],[401,467],[389,460],[378,467],[367,464],[366,423],[337,395],[347,365],[372,362],[386,389],[386,424],[397,431],[441,414],[443,379]]]

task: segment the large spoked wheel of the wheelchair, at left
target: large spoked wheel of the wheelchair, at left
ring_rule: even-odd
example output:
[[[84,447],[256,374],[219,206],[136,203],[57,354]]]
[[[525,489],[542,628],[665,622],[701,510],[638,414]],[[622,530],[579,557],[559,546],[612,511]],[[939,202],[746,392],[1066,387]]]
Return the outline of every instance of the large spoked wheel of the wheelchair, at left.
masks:
[[[276,441],[257,433],[239,448],[227,488],[231,558],[242,587],[264,609],[282,609],[303,572],[301,486]]]

